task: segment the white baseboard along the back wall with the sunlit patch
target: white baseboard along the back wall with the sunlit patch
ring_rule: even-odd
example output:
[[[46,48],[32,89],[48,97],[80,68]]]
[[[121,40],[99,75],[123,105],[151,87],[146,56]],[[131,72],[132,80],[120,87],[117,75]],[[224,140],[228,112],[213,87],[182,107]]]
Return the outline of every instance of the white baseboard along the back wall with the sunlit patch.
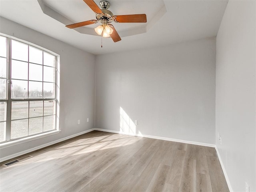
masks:
[[[166,141],[174,141],[174,142],[180,142],[180,143],[186,143],[186,144],[200,145],[200,146],[216,148],[215,144],[209,144],[209,143],[186,141],[186,140],[180,140],[180,139],[173,139],[173,138],[159,137],[159,136],[152,136],[152,135],[144,135],[144,134],[136,134],[136,133],[134,134],[134,133],[127,133],[127,132],[107,130],[107,129],[94,128],[94,130],[96,130],[96,131],[104,131],[104,132],[111,132],[111,133],[118,133],[118,134],[125,134],[125,135],[133,135],[133,136],[139,136],[139,137],[147,137],[147,138],[152,138],[152,139],[160,139],[160,140],[166,140]]]

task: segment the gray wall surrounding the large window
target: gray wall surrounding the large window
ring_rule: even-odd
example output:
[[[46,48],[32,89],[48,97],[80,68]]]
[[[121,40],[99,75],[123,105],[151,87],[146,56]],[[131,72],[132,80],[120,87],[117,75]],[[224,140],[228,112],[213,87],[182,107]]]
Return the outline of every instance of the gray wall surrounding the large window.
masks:
[[[5,18],[0,18],[0,32],[60,55],[61,129],[59,134],[1,149],[0,158],[94,128],[95,56]]]

